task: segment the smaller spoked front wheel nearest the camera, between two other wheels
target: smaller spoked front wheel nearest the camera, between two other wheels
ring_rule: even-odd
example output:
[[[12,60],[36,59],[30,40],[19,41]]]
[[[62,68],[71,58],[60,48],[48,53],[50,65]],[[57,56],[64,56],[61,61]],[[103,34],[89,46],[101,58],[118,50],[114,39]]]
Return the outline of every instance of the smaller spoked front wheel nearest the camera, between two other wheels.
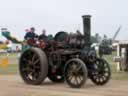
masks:
[[[87,79],[87,68],[80,59],[71,59],[65,67],[65,80],[72,88],[80,88]]]

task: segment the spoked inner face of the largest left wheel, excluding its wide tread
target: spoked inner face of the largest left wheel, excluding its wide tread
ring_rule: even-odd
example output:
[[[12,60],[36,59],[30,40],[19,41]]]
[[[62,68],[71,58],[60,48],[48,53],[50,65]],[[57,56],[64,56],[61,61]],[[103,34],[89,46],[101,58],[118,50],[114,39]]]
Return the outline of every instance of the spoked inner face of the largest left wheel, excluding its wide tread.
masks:
[[[27,80],[36,81],[40,78],[40,58],[34,51],[27,51],[22,55],[20,62],[22,76]]]

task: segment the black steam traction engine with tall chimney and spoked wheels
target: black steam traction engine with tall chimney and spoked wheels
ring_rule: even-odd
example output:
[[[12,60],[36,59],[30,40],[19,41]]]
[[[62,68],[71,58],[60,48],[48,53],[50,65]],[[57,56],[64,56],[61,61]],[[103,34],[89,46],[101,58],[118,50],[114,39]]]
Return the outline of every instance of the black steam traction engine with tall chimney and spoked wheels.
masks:
[[[91,48],[90,15],[83,16],[84,35],[58,32],[53,39],[38,41],[25,50],[19,70],[27,84],[41,84],[45,78],[80,88],[90,78],[96,85],[106,84],[111,71],[106,60],[98,58]]]

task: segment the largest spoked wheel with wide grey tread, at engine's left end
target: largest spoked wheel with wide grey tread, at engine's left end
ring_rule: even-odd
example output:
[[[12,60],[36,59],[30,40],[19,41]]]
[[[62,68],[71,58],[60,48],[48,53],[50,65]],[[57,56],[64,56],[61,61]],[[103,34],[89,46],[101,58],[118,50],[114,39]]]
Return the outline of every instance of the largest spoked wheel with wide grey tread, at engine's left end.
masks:
[[[48,64],[45,53],[39,48],[26,50],[20,58],[19,71],[22,79],[33,85],[41,84],[47,77]]]

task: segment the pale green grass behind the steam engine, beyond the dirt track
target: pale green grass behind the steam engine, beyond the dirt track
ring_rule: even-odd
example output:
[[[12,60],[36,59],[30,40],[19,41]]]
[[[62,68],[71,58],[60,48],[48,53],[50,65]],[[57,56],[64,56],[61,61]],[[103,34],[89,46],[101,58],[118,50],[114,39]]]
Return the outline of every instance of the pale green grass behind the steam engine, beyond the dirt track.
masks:
[[[16,54],[11,54],[14,56]],[[128,72],[117,72],[116,70],[116,63],[112,61],[113,56],[116,56],[116,53],[112,55],[104,56],[104,58],[110,63],[111,70],[112,70],[112,79],[114,80],[128,80]],[[9,64],[6,68],[0,67],[0,74],[7,75],[7,74],[17,74],[18,73],[18,64]]]

